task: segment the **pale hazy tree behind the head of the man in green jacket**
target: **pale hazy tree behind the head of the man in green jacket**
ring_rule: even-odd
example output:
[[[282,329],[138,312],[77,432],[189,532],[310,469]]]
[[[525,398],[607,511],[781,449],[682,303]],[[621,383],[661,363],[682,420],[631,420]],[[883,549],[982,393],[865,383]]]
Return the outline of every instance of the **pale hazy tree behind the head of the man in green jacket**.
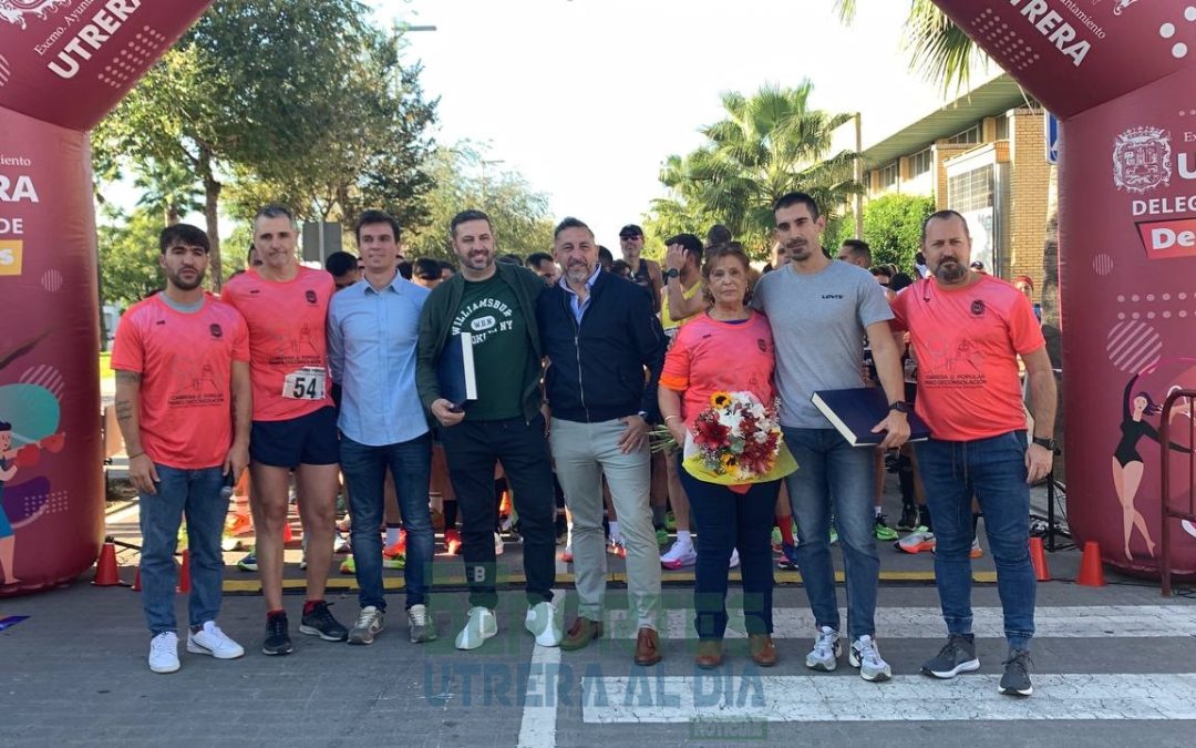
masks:
[[[404,233],[408,257],[456,261],[448,221],[466,208],[490,217],[500,253],[526,257],[553,247],[548,196],[536,191],[517,171],[486,169],[484,152],[469,141],[438,148],[429,174],[435,184],[428,195],[428,218]]]

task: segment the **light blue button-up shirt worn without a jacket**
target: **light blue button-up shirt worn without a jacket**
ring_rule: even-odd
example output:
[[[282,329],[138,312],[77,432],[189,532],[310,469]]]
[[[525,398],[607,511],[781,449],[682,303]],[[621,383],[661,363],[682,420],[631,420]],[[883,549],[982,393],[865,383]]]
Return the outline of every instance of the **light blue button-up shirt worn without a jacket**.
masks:
[[[415,391],[415,347],[427,288],[398,274],[382,291],[362,280],[328,306],[328,363],[341,385],[341,433],[360,444],[409,442],[428,431]]]

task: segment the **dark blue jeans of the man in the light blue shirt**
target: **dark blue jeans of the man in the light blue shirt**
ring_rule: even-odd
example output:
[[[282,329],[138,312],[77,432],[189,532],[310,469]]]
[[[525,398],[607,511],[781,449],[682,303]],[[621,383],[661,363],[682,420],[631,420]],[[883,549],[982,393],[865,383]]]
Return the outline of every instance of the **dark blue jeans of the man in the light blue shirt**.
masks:
[[[358,601],[362,608],[386,610],[382,584],[383,486],[386,469],[395,478],[395,493],[407,530],[407,566],[403,580],[407,607],[422,606],[432,585],[432,555],[435,535],[428,510],[428,479],[432,474],[432,436],[425,433],[408,442],[370,446],[341,436],[341,472],[349,487],[353,517],[353,562],[358,576]]]

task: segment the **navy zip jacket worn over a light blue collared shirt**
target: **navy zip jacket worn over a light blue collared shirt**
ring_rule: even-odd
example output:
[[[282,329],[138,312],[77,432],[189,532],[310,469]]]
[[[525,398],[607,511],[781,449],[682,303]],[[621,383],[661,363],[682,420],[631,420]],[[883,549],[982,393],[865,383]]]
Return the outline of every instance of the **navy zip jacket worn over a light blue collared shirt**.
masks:
[[[557,284],[536,302],[553,418],[590,424],[643,412],[648,421],[658,420],[657,381],[667,343],[643,290],[600,270],[580,324],[572,298]]]

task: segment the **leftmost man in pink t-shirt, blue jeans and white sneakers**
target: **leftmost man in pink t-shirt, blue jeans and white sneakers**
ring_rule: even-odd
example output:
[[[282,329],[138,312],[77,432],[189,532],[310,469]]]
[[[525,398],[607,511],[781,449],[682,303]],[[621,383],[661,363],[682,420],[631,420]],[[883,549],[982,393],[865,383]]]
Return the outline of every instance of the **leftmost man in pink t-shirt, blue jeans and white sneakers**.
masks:
[[[191,595],[187,651],[218,659],[245,653],[216,626],[220,535],[228,494],[249,461],[249,335],[237,310],[203,291],[208,237],[188,224],[159,238],[161,293],[121,318],[112,351],[116,419],[140,494],[141,603],[150,669],[178,670],[175,548],[185,512]]]

